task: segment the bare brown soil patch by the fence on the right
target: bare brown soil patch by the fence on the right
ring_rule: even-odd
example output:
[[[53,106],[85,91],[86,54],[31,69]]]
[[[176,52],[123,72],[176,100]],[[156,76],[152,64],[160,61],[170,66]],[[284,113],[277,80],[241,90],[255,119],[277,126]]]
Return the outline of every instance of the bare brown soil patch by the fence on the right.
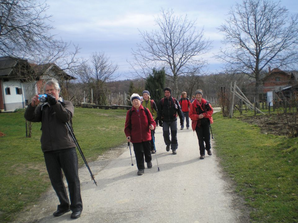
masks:
[[[285,123],[291,116],[291,114],[271,114],[240,117],[238,119],[252,125],[257,125],[261,129],[261,133],[264,134],[288,135],[288,126]],[[298,129],[298,122],[295,123],[295,128]]]

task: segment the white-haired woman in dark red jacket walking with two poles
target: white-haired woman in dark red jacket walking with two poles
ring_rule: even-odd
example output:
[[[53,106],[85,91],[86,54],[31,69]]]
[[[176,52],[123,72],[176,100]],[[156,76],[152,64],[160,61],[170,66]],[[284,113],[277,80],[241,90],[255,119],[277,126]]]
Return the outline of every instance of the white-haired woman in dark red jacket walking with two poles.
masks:
[[[144,156],[147,168],[152,168],[150,130],[153,130],[156,124],[151,113],[148,110],[146,112],[141,105],[140,95],[132,94],[130,101],[133,107],[126,113],[124,133],[127,141],[133,143],[138,175],[143,175],[145,169]]]

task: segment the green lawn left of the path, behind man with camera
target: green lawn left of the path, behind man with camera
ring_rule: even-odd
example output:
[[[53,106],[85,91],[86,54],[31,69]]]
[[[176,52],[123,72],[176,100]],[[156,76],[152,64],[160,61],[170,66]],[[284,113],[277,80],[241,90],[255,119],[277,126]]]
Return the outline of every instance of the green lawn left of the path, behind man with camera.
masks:
[[[88,161],[124,143],[126,110],[75,108],[73,128]],[[40,123],[33,123],[32,137],[25,138],[24,110],[0,113],[0,222],[34,203],[50,186],[40,148]],[[84,161],[79,156],[80,165]]]

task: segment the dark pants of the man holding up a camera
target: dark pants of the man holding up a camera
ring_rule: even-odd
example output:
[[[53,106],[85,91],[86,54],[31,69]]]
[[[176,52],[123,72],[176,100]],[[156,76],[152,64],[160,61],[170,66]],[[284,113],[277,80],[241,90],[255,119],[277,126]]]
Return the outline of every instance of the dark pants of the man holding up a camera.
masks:
[[[62,149],[53,152],[44,152],[44,160],[47,167],[53,189],[58,196],[60,204],[57,210],[82,211],[83,203],[81,198],[80,181],[78,174],[78,156],[75,148]],[[65,175],[70,203],[63,182],[62,171]]]

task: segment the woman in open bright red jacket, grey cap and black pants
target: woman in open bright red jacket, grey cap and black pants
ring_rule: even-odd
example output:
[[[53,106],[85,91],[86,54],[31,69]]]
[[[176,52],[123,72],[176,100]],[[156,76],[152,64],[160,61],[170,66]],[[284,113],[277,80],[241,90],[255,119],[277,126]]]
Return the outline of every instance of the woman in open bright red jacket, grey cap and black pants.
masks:
[[[212,155],[210,144],[210,124],[213,123],[213,108],[211,104],[203,98],[201,89],[195,92],[196,99],[190,105],[189,117],[192,120],[192,130],[196,131],[199,140],[200,159],[205,158],[205,150],[208,155]],[[205,142],[205,144],[204,144]]]

